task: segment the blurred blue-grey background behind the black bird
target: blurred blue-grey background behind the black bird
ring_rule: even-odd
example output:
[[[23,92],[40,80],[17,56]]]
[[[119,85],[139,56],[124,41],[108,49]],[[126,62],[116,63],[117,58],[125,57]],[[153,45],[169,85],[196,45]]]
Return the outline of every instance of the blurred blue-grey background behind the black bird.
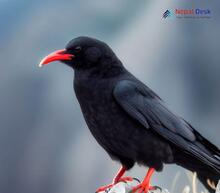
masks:
[[[218,0],[0,0],[0,192],[94,192],[119,168],[91,136],[72,89],[73,71],[40,59],[77,36],[107,42],[125,66],[220,147]],[[162,19],[205,8],[209,19]],[[190,184],[167,165],[152,184]],[[146,168],[130,175],[143,178]]]

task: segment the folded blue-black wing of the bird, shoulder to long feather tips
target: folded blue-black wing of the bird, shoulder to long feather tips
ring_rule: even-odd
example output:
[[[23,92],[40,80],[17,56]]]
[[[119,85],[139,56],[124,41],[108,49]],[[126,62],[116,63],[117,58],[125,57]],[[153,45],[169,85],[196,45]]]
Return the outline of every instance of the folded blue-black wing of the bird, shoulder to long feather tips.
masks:
[[[181,117],[174,115],[161,99],[140,82],[122,80],[116,84],[113,95],[117,103],[145,128],[212,165],[215,158],[197,141],[197,132]]]

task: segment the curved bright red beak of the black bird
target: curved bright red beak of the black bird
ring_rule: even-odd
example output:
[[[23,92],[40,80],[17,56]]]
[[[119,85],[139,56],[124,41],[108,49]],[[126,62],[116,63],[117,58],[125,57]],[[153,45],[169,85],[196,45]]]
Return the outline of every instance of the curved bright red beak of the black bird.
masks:
[[[42,67],[43,65],[46,65],[50,62],[53,61],[60,61],[60,60],[72,60],[72,58],[74,57],[73,54],[67,54],[65,52],[66,50],[57,50],[49,55],[47,55],[46,57],[44,57],[40,63],[39,63],[39,67]]]

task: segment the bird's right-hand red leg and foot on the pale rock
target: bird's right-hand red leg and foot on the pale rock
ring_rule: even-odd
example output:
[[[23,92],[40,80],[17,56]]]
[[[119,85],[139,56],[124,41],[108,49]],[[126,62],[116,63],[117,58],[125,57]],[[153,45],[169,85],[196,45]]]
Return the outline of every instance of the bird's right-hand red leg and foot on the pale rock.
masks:
[[[141,182],[139,185],[135,186],[133,189],[132,189],[132,193],[136,192],[137,190],[138,193],[147,193],[149,190],[152,190],[154,189],[153,186],[150,186],[150,179],[151,179],[151,176],[153,175],[155,169],[154,168],[149,168],[148,172],[147,172],[147,175],[145,176],[143,182]]]

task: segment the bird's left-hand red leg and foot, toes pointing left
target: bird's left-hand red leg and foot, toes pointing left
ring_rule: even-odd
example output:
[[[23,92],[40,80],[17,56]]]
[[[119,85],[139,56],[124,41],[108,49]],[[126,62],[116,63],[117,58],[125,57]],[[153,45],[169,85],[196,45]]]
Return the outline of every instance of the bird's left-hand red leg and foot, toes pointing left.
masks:
[[[102,186],[100,188],[98,188],[96,190],[96,192],[102,192],[105,191],[108,188],[111,188],[112,186],[114,186],[115,184],[117,184],[118,182],[126,182],[126,181],[132,181],[133,178],[131,177],[122,177],[124,175],[124,173],[126,172],[126,168],[124,166],[122,166],[120,168],[120,170],[118,171],[118,173],[116,174],[116,176],[113,178],[113,181],[111,184],[106,185],[106,186]]]

